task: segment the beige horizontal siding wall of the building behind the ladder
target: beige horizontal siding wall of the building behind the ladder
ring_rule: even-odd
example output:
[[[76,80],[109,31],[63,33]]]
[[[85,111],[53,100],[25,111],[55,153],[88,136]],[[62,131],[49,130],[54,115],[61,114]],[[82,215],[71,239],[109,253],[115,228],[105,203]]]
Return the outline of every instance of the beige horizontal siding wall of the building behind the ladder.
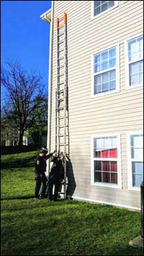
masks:
[[[70,159],[74,197],[140,207],[140,192],[128,190],[127,131],[143,129],[143,88],[125,88],[125,40],[143,33],[143,1],[119,1],[117,8],[91,17],[93,1],[55,1],[54,21],[67,13]],[[119,44],[120,92],[91,97],[91,55]],[[54,27],[51,150],[55,142],[56,26]],[[91,136],[121,138],[122,189],[91,185]]]

